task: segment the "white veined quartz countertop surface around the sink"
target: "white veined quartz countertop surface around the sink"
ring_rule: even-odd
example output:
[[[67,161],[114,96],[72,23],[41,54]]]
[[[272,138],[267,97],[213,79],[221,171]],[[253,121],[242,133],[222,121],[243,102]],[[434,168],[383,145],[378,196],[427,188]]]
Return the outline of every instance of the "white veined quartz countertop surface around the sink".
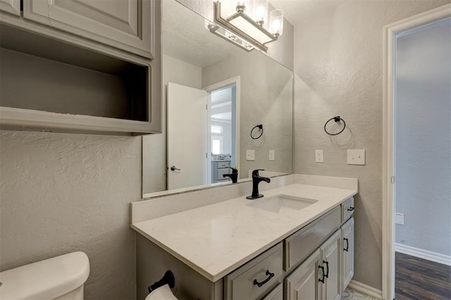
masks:
[[[144,220],[133,223],[132,228],[215,282],[354,196],[357,189],[295,183],[263,194],[256,200],[240,196]],[[247,205],[278,194],[318,201],[299,211],[280,213]]]

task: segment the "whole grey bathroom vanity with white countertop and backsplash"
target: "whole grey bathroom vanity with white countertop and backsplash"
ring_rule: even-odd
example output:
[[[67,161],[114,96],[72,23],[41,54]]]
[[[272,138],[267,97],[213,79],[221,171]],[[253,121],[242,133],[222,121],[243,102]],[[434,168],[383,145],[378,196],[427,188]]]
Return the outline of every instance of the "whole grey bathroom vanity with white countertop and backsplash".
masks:
[[[166,270],[178,299],[340,299],[354,273],[357,180],[280,176],[257,200],[250,189],[132,203],[137,299]]]

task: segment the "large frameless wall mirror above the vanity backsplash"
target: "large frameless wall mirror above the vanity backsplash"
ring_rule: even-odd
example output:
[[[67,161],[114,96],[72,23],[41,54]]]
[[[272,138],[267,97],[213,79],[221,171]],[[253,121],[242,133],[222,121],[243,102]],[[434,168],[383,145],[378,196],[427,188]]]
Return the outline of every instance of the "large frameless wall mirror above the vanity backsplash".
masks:
[[[175,0],[162,1],[162,23],[166,125],[143,137],[144,198],[231,183],[230,168],[240,180],[291,173],[292,71],[212,34]]]

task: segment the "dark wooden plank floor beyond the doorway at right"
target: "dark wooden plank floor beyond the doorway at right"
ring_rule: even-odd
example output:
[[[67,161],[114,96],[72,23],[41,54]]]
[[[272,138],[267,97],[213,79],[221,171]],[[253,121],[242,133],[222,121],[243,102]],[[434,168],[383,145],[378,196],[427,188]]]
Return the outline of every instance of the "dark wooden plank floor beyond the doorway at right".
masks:
[[[396,252],[395,300],[451,299],[451,266]]]

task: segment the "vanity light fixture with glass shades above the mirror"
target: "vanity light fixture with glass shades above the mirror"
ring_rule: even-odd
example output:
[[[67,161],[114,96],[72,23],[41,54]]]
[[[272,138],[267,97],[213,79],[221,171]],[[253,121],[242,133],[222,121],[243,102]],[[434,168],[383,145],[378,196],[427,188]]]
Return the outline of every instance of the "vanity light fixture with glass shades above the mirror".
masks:
[[[266,44],[276,41],[283,32],[283,11],[275,9],[269,15],[268,24],[268,0],[214,2],[215,22],[226,27],[235,37],[240,37],[245,44],[264,52],[268,51]],[[230,42],[230,38],[228,40]]]

